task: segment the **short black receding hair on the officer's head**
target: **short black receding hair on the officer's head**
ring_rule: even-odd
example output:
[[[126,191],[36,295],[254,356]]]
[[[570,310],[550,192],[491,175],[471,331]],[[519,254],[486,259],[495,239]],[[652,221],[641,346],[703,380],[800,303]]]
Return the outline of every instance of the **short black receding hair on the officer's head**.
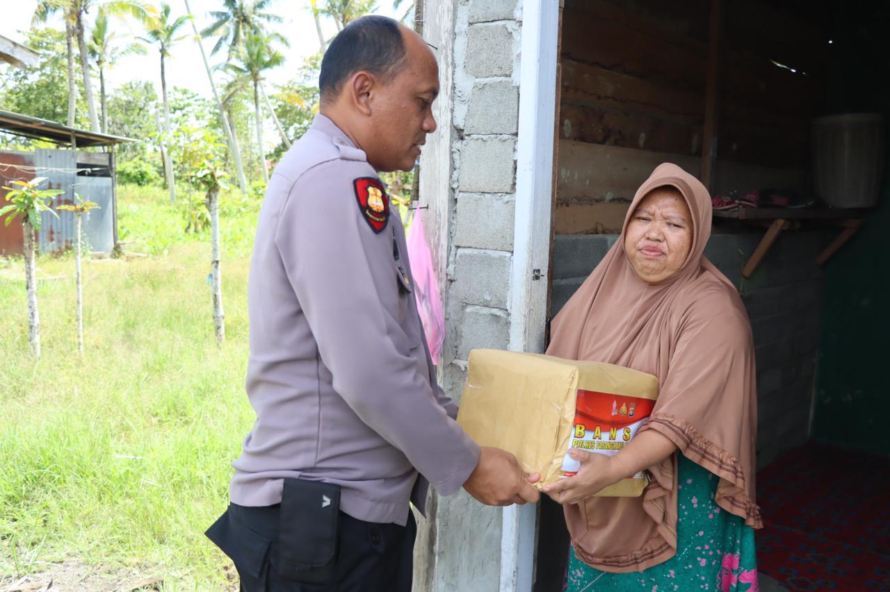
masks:
[[[337,33],[321,60],[321,99],[331,99],[356,72],[392,76],[405,59],[398,21],[370,15],[353,20]]]

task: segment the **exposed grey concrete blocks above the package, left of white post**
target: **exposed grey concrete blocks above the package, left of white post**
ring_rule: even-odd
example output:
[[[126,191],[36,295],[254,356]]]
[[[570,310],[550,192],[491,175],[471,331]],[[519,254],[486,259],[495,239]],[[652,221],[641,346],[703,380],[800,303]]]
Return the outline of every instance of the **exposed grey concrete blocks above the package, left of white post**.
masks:
[[[457,0],[443,387],[456,398],[473,348],[510,332],[521,0]]]

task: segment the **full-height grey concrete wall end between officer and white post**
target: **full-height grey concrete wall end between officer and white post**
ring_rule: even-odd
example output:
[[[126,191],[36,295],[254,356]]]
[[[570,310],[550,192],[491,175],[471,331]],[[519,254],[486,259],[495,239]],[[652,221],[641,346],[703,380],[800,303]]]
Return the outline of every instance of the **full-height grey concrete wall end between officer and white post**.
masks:
[[[442,388],[459,401],[470,351],[506,349],[510,339],[522,0],[443,0],[426,3],[425,11],[425,27],[447,29],[440,21],[448,18],[454,31],[451,39],[436,38],[439,46],[453,46],[440,56],[452,60],[451,84],[440,96],[452,108],[440,112],[447,127],[437,132],[437,141],[449,144],[449,158],[421,161],[421,201],[431,203],[439,220],[427,236],[438,236],[439,252],[447,252],[438,372]],[[429,177],[443,171],[450,171],[447,196],[444,184],[433,187]],[[415,547],[414,589],[498,590],[501,508],[482,506],[463,491],[433,492],[428,508]]]

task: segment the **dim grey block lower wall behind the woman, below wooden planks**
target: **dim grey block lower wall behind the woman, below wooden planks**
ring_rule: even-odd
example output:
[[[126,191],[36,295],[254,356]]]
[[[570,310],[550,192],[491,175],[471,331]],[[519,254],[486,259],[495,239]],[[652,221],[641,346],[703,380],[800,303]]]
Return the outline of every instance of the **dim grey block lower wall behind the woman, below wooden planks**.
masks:
[[[809,436],[822,274],[814,260],[830,242],[822,232],[787,232],[754,276],[741,268],[762,235],[714,234],[705,255],[739,288],[757,362],[757,465],[765,467]],[[617,235],[556,236],[551,316],[578,290]]]

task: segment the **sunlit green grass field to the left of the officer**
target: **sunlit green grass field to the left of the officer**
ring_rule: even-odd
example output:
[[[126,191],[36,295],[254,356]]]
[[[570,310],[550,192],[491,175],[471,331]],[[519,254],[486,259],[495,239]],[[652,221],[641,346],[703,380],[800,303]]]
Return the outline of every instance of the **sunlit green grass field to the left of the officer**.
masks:
[[[85,356],[73,257],[37,262],[40,360],[22,261],[0,260],[0,588],[72,561],[167,590],[226,586],[227,560],[203,531],[253,421],[243,384],[258,200],[223,197],[222,347],[209,230],[185,234],[184,208],[158,188],[123,187],[118,201],[125,252],[146,256],[85,260]]]

